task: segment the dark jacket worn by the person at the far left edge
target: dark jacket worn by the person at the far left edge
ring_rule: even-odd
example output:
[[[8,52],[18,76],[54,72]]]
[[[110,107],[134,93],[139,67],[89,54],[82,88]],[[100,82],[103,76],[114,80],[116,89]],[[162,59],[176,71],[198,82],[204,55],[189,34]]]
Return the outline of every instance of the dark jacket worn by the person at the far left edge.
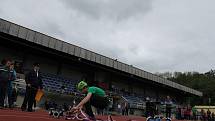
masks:
[[[2,85],[7,85],[8,81],[10,80],[10,70],[6,66],[0,66],[0,83]]]

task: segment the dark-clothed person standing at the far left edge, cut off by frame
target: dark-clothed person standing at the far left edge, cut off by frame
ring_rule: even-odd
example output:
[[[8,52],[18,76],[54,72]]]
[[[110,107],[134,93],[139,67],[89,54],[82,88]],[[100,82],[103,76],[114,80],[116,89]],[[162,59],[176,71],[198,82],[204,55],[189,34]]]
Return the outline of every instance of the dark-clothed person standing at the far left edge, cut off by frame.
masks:
[[[8,91],[8,82],[10,80],[10,59],[2,60],[2,65],[0,66],[0,109],[4,108],[4,100]],[[11,107],[11,105],[9,105]]]

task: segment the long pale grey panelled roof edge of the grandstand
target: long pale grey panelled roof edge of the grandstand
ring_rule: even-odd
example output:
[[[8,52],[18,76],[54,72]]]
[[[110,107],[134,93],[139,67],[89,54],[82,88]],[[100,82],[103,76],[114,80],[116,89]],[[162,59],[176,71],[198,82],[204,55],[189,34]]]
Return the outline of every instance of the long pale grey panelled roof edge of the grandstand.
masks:
[[[22,27],[20,25],[3,20],[1,18],[0,18],[0,32],[24,39],[29,42],[42,45],[45,47],[49,47],[57,51],[68,53],[70,55],[77,56],[79,58],[83,58],[83,59],[101,64],[103,66],[110,67],[112,69],[117,69],[119,71],[131,74],[131,75],[135,75],[140,78],[148,79],[156,83],[163,84],[190,94],[194,94],[197,96],[203,95],[203,93],[200,91],[169,81],[165,78],[162,78],[150,72],[146,72],[132,65],[125,64],[118,60],[112,59],[110,57],[106,57],[101,54],[92,52],[90,50],[78,47],[76,45],[69,44],[62,40]]]

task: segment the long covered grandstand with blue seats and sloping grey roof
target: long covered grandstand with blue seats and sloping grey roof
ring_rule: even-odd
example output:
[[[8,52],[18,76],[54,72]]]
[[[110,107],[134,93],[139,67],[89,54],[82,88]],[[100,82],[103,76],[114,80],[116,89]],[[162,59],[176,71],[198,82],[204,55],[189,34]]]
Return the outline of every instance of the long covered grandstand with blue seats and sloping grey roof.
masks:
[[[117,59],[86,50],[48,35],[0,19],[0,59],[11,57],[24,74],[33,62],[41,64],[48,92],[71,94],[79,80],[86,80],[119,95],[133,108],[144,108],[145,98],[160,101],[170,95],[175,103],[202,92],[169,81]],[[24,78],[24,77],[21,77]],[[177,96],[176,96],[177,95]],[[117,103],[118,99],[114,99]]]

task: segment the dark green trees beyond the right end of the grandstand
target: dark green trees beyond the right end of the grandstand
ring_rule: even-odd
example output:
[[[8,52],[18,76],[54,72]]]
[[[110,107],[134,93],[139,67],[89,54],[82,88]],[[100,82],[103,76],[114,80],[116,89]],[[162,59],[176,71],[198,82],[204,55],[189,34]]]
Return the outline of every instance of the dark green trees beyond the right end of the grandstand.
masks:
[[[215,70],[199,72],[156,73],[170,81],[203,92],[202,97],[189,97],[191,105],[215,105]]]

